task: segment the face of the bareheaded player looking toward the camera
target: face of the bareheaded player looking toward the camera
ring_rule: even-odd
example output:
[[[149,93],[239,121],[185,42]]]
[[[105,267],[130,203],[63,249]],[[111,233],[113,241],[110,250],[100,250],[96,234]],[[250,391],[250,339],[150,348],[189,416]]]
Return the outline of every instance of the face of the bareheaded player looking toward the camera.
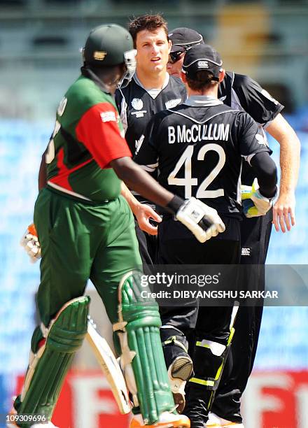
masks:
[[[136,38],[137,72],[143,69],[148,73],[166,69],[171,42],[167,40],[164,29],[139,31]]]

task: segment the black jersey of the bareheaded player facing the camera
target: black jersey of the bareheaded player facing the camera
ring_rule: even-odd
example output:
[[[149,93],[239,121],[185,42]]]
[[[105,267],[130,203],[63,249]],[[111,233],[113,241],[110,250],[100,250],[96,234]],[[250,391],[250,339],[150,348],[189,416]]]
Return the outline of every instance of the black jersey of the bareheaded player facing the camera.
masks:
[[[125,129],[125,139],[134,156],[144,141],[144,131],[151,117],[173,108],[187,98],[181,79],[167,74],[162,90],[146,90],[136,75],[130,84],[116,91],[116,104]]]

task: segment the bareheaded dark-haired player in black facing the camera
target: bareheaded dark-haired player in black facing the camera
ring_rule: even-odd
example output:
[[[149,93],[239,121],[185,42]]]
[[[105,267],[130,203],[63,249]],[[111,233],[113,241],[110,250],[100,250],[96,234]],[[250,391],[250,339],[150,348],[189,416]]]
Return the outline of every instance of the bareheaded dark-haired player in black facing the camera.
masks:
[[[187,96],[181,79],[167,73],[171,43],[168,40],[167,22],[162,16],[136,17],[130,22],[129,31],[134,48],[137,49],[137,69],[130,83],[116,91],[116,104],[126,141],[135,155],[144,141],[144,131],[153,114],[181,104]],[[148,202],[143,197],[136,197],[141,202]],[[155,213],[152,217],[160,222],[160,217]],[[136,224],[139,250],[145,267],[155,262],[157,253],[157,227],[152,226],[148,232],[145,233]]]

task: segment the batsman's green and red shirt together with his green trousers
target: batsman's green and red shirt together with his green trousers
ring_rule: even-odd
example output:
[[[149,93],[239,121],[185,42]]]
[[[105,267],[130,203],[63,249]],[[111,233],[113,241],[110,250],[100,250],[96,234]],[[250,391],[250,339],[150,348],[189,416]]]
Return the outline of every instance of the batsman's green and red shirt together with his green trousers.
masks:
[[[85,76],[69,87],[45,155],[48,185],[34,208],[42,249],[37,302],[45,326],[84,294],[89,278],[117,322],[120,280],[141,266],[134,217],[110,167],[113,159],[131,156],[130,149],[116,104],[104,91]]]

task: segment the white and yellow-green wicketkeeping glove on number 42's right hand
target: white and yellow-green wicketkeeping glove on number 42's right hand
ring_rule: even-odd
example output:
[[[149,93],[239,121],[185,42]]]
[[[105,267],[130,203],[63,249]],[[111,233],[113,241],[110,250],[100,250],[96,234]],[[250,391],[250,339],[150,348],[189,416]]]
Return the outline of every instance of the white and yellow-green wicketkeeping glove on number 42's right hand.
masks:
[[[246,217],[259,217],[265,215],[272,207],[276,197],[267,198],[260,194],[258,179],[253,180],[252,186],[241,185],[241,204]]]

